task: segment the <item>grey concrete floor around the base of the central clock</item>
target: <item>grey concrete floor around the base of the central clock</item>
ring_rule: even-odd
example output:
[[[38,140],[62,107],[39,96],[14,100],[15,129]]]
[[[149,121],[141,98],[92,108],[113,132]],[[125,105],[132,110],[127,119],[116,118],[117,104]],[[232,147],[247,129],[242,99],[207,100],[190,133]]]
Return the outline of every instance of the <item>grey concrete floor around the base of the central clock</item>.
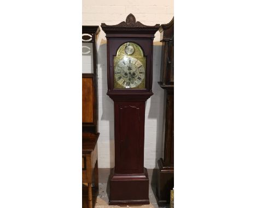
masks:
[[[110,174],[110,169],[98,169],[98,182],[99,182],[99,193],[96,200],[95,208],[105,208],[105,207],[120,207],[120,206],[109,206],[108,205],[108,194],[107,194],[107,181]],[[156,169],[148,169],[149,177],[149,201],[150,204],[142,206],[132,206],[140,208],[158,208],[158,204],[155,199],[155,184],[156,184]],[[127,206],[129,207],[129,206]],[[166,208],[170,208],[167,205]]]

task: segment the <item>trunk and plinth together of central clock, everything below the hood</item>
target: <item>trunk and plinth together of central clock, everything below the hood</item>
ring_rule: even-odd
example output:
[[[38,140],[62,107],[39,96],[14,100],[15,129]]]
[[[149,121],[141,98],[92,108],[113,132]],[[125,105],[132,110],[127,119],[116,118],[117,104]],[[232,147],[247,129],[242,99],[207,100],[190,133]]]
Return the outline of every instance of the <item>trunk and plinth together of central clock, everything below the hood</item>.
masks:
[[[143,167],[146,98],[139,99],[114,99],[115,168],[110,174],[109,205],[149,204],[148,172]]]

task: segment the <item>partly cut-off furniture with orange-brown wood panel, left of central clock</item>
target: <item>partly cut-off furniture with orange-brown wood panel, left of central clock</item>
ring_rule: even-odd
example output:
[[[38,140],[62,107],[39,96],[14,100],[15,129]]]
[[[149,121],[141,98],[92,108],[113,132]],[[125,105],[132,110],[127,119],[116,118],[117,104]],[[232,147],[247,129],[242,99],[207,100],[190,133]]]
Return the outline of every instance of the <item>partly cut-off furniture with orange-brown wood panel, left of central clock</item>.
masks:
[[[97,53],[96,36],[98,26],[82,27],[83,56],[92,58],[88,72],[82,74],[82,183],[83,207],[92,208],[93,196],[98,194],[97,131]],[[92,69],[92,71],[90,71]],[[95,198],[96,199],[96,198]]]

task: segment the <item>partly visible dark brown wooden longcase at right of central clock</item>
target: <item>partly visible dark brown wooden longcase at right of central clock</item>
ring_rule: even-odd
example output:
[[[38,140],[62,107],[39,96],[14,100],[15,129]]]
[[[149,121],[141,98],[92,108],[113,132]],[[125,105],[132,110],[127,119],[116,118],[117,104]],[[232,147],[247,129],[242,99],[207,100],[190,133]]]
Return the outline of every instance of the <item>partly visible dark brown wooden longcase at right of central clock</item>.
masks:
[[[165,108],[165,143],[164,159],[158,160],[158,184],[156,186],[156,196],[158,205],[164,207],[170,203],[170,191],[173,188],[174,163],[173,163],[173,24],[171,22],[161,25],[162,42],[162,62],[161,62],[161,81],[159,85],[165,90],[166,108]]]

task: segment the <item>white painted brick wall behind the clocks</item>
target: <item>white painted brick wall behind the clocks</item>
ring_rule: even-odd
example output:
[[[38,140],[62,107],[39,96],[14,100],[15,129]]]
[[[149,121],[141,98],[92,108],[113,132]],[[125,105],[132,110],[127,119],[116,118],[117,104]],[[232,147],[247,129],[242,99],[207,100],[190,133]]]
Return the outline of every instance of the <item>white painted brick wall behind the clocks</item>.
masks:
[[[173,0],[83,0],[83,25],[116,25],[132,13],[144,25],[164,24],[173,17]],[[105,33],[97,39],[98,56],[98,166],[114,167],[114,103],[107,93],[107,47]],[[153,55],[154,95],[146,103],[144,167],[155,168],[162,147],[164,90],[159,85],[161,66],[160,33],[155,34]],[[85,67],[85,66],[84,66]]]

